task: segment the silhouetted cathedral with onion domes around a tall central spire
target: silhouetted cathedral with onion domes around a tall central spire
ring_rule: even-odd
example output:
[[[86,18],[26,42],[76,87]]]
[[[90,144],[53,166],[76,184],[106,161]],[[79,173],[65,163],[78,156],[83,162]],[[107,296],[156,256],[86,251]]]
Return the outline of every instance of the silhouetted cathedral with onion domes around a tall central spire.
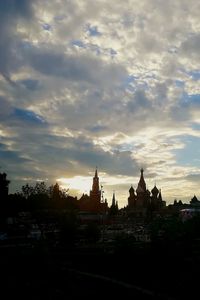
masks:
[[[144,217],[148,212],[158,211],[165,206],[162,200],[161,190],[156,185],[151,192],[146,188],[144,170],[141,169],[140,180],[136,189],[131,186],[129,189],[128,209],[135,216]]]

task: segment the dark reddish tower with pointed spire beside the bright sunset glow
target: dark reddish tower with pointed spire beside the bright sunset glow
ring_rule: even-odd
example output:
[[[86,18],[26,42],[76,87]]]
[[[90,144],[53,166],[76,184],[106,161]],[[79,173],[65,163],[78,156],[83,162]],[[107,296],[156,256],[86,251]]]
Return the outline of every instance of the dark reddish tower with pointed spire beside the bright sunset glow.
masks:
[[[99,188],[99,177],[97,173],[97,168],[93,177],[93,184],[92,189],[90,191],[90,196],[88,196],[87,194],[83,194],[79,200],[79,207],[82,211],[97,213],[106,212],[108,209],[107,202],[101,200],[101,190]]]

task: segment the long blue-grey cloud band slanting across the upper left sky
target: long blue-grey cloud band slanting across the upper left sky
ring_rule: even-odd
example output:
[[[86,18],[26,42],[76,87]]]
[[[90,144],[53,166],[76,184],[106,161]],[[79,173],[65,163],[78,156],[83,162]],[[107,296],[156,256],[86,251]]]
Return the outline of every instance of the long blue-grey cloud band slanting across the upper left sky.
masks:
[[[49,51],[45,47],[30,47],[27,50],[27,61],[42,74],[90,84],[106,85],[111,79],[115,84],[126,75],[125,69],[117,64],[107,65],[100,58],[92,56],[67,55],[54,48]]]

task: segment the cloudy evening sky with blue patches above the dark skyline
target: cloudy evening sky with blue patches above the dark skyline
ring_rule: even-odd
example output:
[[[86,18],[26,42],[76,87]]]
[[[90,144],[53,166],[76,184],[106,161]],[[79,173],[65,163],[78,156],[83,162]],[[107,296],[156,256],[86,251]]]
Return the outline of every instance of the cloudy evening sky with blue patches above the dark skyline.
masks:
[[[0,172],[10,192],[119,207],[140,169],[163,200],[200,198],[198,0],[1,0]]]

